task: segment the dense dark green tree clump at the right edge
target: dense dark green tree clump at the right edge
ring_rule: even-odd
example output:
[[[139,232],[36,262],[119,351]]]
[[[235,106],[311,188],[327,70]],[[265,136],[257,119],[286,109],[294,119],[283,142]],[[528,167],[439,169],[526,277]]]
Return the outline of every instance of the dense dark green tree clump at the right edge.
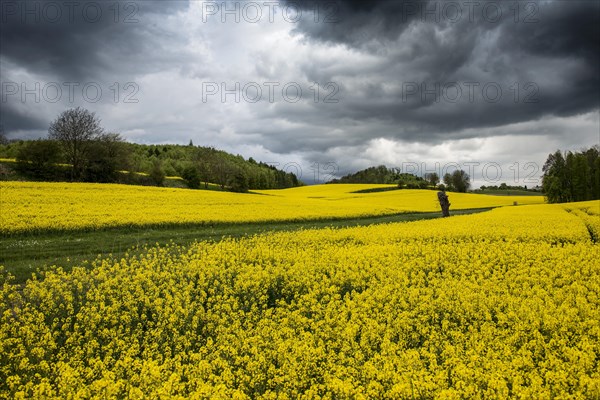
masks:
[[[542,190],[549,203],[600,199],[600,146],[549,154],[542,168]]]

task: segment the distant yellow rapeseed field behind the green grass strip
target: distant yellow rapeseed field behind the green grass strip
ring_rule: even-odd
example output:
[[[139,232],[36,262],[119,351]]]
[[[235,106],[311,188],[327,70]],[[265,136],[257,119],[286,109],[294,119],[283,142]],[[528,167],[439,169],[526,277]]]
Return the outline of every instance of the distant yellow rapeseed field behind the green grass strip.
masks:
[[[434,191],[352,193],[382,185],[322,185],[237,194],[157,187],[0,182],[0,234],[264,221],[302,221],[438,211]],[[542,203],[540,196],[450,195],[453,209]]]

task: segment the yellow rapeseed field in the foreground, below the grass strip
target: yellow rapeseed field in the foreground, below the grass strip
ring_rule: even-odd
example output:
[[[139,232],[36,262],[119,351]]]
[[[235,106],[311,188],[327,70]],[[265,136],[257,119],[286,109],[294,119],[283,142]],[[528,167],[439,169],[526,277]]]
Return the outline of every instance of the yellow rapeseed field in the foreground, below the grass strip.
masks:
[[[3,275],[0,398],[599,398],[582,215],[506,207]]]

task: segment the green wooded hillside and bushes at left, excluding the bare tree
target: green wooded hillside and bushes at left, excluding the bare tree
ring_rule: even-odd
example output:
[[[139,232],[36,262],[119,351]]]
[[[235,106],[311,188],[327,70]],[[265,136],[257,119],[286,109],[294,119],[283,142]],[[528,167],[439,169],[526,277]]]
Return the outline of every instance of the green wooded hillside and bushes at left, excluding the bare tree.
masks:
[[[144,145],[120,137],[102,137],[87,144],[80,170],[73,173],[56,141],[17,140],[0,144],[0,175],[42,181],[78,181],[162,186],[167,177],[181,177],[186,186],[244,192],[302,185],[286,173],[252,157],[245,159],[213,147]]]

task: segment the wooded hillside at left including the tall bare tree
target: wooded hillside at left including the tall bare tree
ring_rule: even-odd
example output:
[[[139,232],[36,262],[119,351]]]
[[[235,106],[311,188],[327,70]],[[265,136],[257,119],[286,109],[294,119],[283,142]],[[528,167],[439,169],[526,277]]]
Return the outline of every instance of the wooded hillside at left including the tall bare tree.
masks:
[[[166,177],[177,176],[190,188],[217,185],[237,192],[302,185],[293,173],[191,141],[187,146],[128,143],[79,107],[52,121],[46,139],[2,139],[0,158],[15,158],[17,172],[34,180],[162,186]]]

